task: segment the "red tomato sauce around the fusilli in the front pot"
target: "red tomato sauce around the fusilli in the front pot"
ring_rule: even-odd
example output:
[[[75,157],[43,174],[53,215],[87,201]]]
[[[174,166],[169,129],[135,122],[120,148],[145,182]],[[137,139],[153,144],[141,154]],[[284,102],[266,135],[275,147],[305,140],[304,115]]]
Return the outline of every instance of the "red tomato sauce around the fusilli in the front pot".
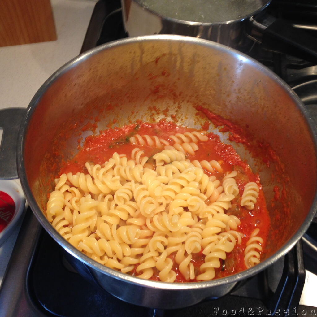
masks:
[[[216,119],[219,122],[220,119]],[[231,126],[231,128],[233,127]],[[69,160],[65,166],[62,167],[61,173],[87,173],[85,168],[86,162],[101,165],[111,158],[114,152],[126,154],[127,158],[130,159],[131,152],[135,147],[139,147],[145,152],[146,156],[151,157],[153,154],[160,152],[161,150],[150,146],[132,145],[129,142],[130,137],[135,134],[147,134],[149,136],[156,135],[159,138],[171,141],[169,135],[184,133],[186,131],[191,132],[193,129],[184,126],[178,126],[174,122],[165,120],[161,120],[158,123],[138,121],[134,124],[126,125],[120,128],[102,131],[99,135],[89,136],[86,138],[81,150],[74,156],[73,159]],[[235,131],[236,135],[238,132],[239,131]],[[222,261],[220,259],[222,265],[220,268],[216,269],[216,278],[220,278],[246,269],[246,265],[244,264],[244,249],[249,236],[255,228],[260,230],[259,236],[261,236],[264,240],[262,252],[265,252],[265,242],[267,240],[268,231],[270,228],[270,218],[268,216],[268,210],[266,208],[266,202],[259,175],[251,171],[249,165],[239,157],[231,145],[222,143],[219,136],[216,134],[208,133],[207,135],[209,140],[198,143],[199,149],[195,152],[195,155],[189,155],[188,158],[190,160],[217,160],[218,162],[221,162],[221,166],[223,168],[222,172],[215,171],[210,173],[205,171],[210,176],[215,175],[219,180],[224,177],[226,172],[236,170],[238,175],[235,179],[240,191],[239,195],[232,201],[232,207],[227,210],[226,213],[229,215],[235,215],[240,219],[241,224],[238,226],[237,231],[243,233],[242,243],[236,244],[234,250],[227,254],[226,260]],[[235,139],[241,141],[244,140],[244,137],[235,137]],[[253,210],[248,210],[244,207],[241,207],[239,204],[243,193],[243,188],[247,182],[256,182],[260,189],[259,197],[257,198],[257,203]],[[278,193],[278,189],[275,191]],[[185,282],[186,280],[179,272],[178,266],[175,263],[175,254],[171,254],[169,257],[174,261],[173,269],[177,273],[176,281]],[[194,264],[195,271],[197,271],[197,274],[199,274],[199,267],[204,262],[204,255],[202,252],[192,254],[191,262]],[[154,273],[152,277],[153,280],[159,280],[158,273],[159,272]],[[135,269],[130,272],[130,274],[135,275]]]

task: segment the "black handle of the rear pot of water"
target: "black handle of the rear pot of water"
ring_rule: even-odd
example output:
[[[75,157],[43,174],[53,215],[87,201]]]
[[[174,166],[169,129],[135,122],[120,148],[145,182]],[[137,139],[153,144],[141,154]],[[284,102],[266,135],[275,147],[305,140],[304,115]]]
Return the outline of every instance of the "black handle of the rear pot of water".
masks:
[[[260,42],[264,49],[317,62],[317,39],[306,30],[270,15],[253,16],[249,20],[249,37]]]

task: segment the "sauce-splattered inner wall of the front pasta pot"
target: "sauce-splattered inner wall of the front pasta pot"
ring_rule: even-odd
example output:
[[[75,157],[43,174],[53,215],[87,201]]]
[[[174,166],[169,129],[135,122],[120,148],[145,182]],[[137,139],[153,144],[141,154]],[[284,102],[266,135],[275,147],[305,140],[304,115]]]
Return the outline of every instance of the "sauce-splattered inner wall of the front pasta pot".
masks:
[[[287,243],[309,213],[316,153],[303,110],[274,75],[235,51],[179,37],[126,40],[81,56],[41,89],[29,112],[23,155],[44,214],[54,178],[87,135],[140,119],[199,130],[210,119],[197,106],[223,118],[220,126],[210,122],[210,131],[260,174],[271,218],[266,256]],[[229,123],[245,142],[232,141],[236,130]]]

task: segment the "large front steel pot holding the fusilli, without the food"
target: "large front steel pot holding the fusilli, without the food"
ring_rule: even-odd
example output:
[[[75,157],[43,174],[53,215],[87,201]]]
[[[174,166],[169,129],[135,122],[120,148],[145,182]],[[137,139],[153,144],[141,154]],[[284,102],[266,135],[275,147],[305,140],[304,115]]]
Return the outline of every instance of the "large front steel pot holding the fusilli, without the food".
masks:
[[[260,264],[213,281],[147,281],[94,262],[53,229],[45,217],[47,193],[62,162],[77,152],[82,127],[92,127],[81,131],[85,137],[109,126],[175,115],[176,123],[199,128],[206,118],[197,115],[196,105],[241,126],[251,136],[251,144],[269,144],[280,158],[278,163],[271,151],[264,153],[271,160],[268,167],[262,157],[230,142],[228,133],[210,129],[232,144],[260,174],[272,220],[269,251]],[[93,124],[87,125],[89,122]],[[23,190],[45,230],[102,288],[147,307],[185,307],[227,294],[239,281],[286,254],[307,230],[317,207],[316,127],[301,100],[260,63],[194,37],[128,38],[69,61],[31,100],[17,151]],[[275,202],[274,186],[284,186],[287,200]]]

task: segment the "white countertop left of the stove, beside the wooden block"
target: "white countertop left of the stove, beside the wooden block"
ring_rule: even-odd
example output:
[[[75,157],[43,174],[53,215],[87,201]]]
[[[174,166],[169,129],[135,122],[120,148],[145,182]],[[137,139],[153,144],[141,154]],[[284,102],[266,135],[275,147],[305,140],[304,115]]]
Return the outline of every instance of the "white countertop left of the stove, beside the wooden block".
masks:
[[[79,54],[95,4],[51,0],[57,41],[0,48],[0,109],[26,108],[44,81]],[[0,246],[0,286],[20,225]]]

